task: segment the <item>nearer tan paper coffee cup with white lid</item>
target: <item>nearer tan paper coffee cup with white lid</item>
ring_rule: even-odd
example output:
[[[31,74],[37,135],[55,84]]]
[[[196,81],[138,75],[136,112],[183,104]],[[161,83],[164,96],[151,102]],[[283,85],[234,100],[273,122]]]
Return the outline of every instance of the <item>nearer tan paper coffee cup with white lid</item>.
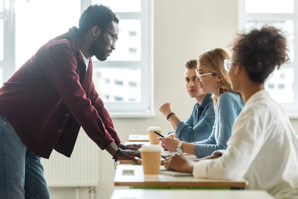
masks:
[[[143,146],[140,148],[142,165],[145,175],[158,175],[161,165],[161,152],[163,148],[160,145]]]

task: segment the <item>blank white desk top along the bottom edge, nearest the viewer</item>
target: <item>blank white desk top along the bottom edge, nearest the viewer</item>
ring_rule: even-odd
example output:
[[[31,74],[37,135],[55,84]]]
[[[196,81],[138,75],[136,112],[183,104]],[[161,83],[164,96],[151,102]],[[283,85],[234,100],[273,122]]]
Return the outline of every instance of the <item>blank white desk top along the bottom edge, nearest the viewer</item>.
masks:
[[[274,199],[265,191],[114,190],[110,199]]]

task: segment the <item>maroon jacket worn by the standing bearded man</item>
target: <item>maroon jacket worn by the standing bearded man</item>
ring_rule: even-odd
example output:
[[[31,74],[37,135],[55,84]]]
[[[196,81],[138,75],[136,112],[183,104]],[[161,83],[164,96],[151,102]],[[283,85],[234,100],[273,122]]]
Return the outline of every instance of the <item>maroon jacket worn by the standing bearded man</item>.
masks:
[[[0,115],[35,154],[70,157],[80,126],[104,150],[120,139],[78,46],[77,28],[43,45],[0,88]]]

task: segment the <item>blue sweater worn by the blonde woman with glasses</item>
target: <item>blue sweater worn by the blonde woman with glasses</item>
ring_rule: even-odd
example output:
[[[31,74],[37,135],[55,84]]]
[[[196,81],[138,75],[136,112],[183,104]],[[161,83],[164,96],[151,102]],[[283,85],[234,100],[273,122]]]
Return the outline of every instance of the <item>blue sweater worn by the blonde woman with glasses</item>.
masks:
[[[226,149],[233,123],[244,105],[239,95],[226,92],[220,95],[216,104],[213,131],[208,139],[196,142],[195,155],[198,158],[212,155],[216,150]]]

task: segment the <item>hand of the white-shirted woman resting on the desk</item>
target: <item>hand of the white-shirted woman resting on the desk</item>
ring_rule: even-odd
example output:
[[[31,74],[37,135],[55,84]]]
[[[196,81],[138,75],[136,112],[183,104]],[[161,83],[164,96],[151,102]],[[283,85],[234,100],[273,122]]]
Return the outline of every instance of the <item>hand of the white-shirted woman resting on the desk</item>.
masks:
[[[166,169],[173,169],[183,173],[193,173],[193,165],[193,161],[188,160],[183,155],[178,154],[175,154],[164,161],[164,167]]]

